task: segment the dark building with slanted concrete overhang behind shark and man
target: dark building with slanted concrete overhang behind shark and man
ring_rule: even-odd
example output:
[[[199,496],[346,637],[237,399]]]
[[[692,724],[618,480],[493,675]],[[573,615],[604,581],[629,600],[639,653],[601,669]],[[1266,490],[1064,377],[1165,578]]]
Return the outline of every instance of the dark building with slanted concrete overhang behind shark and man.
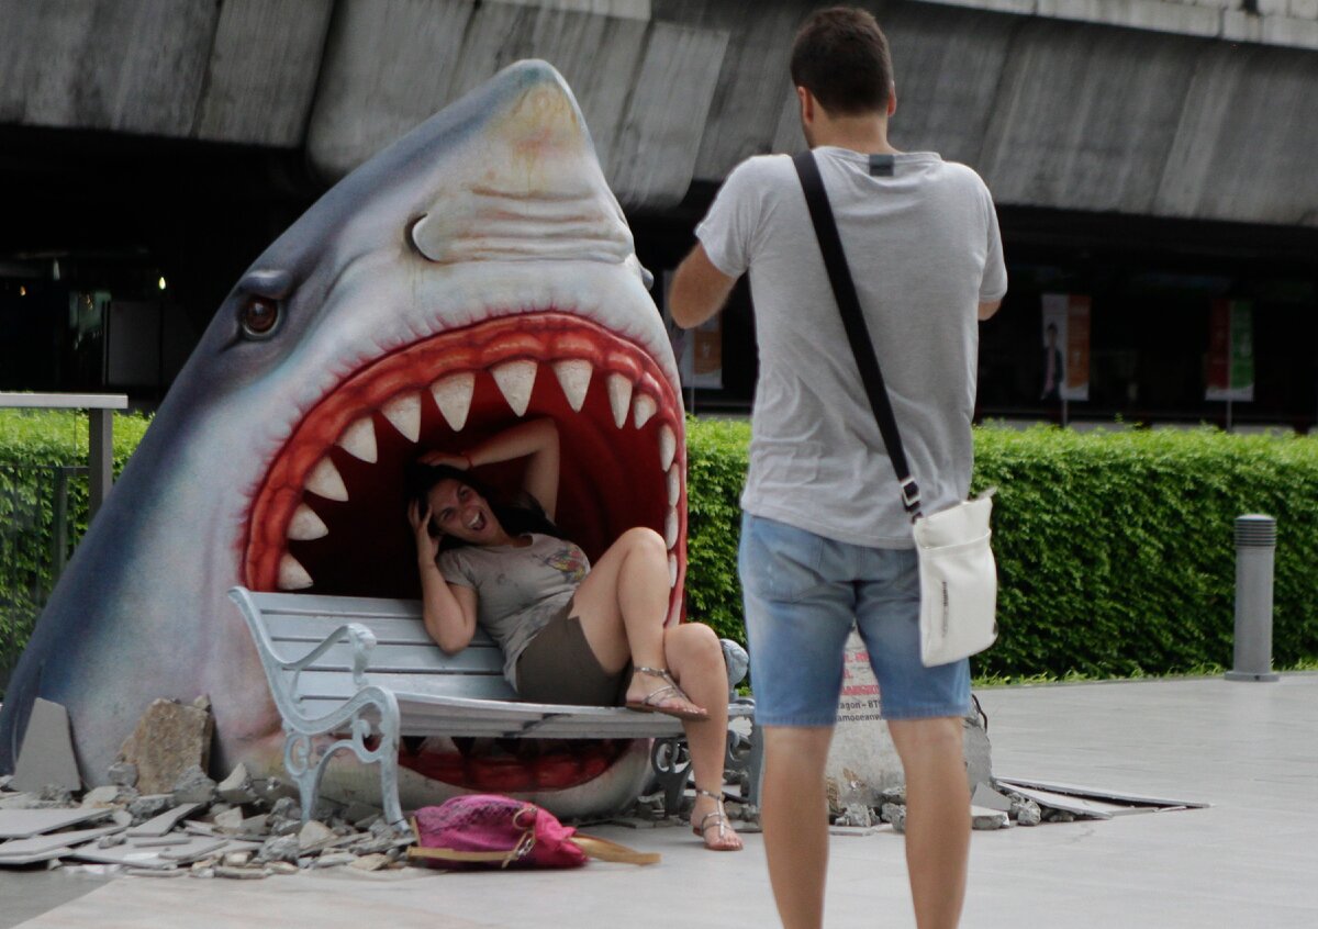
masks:
[[[804,145],[786,57],[817,5],[0,0],[0,389],[149,406],[306,206],[529,57],[573,87],[662,306],[731,167]],[[982,416],[1314,424],[1318,0],[861,5],[894,144],[999,204]],[[697,411],[749,407],[743,289],[679,348]]]

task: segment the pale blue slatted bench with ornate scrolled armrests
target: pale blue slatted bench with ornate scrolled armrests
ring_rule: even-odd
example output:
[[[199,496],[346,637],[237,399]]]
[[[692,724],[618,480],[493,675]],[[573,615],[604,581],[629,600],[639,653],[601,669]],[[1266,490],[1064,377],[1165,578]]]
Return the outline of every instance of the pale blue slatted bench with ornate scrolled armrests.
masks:
[[[668,779],[670,800],[689,776],[679,719],[618,706],[521,701],[503,680],[503,652],[488,635],[477,633],[467,648],[445,655],[426,633],[419,601],[253,593],[241,586],[229,597],[252,630],[283,718],[283,762],[298,784],[303,821],[315,809],[326,764],[343,750],[380,764],[385,816],[403,824],[398,748],[399,738],[411,735],[658,738],[666,743],[656,745],[651,760],[660,779]],[[754,702],[734,698],[729,718],[754,721]],[[378,739],[373,748],[370,737]],[[749,739],[729,733],[729,762],[749,766],[751,789],[758,785],[759,756],[754,729]]]

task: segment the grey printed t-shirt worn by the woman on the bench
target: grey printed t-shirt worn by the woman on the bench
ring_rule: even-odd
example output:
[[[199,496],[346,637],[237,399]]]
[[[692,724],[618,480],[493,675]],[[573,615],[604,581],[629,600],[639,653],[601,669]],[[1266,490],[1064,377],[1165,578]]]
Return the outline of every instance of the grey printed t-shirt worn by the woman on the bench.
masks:
[[[444,580],[476,590],[476,619],[503,650],[503,677],[517,687],[517,659],[576,593],[590,561],[575,543],[530,534],[529,546],[465,546],[439,556]]]

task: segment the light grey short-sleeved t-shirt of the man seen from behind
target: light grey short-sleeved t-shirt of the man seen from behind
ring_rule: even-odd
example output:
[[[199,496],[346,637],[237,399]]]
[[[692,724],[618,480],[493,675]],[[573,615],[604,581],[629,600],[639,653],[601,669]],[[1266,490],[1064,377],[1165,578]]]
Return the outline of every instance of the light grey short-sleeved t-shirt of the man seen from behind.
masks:
[[[979,175],[933,153],[815,150],[907,461],[927,513],[965,499],[978,304],[1007,291]],[[742,507],[841,542],[909,548],[892,463],[855,368],[792,159],[742,162],[696,228],[718,270],[750,270],[759,345]]]

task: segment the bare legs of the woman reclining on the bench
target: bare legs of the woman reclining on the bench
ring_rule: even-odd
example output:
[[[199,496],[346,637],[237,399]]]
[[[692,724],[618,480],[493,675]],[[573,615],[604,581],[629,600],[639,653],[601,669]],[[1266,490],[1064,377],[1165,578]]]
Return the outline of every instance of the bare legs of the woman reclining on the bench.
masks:
[[[668,615],[668,549],[658,532],[633,528],[623,532],[590,568],[577,588],[573,611],[581,621],[590,651],[608,672],[627,662],[637,667],[668,668],[689,700],[667,694],[663,706],[706,708],[706,719],[684,722],[696,787],[720,793],[724,785],[724,754],[728,739],[728,668],[713,630],[701,623],[664,629]],[[641,700],[664,687],[647,675],[634,673],[627,700]],[[700,826],[717,802],[696,796],[692,824]],[[714,849],[739,849],[741,838],[728,824],[720,834],[714,821],[704,834]]]

